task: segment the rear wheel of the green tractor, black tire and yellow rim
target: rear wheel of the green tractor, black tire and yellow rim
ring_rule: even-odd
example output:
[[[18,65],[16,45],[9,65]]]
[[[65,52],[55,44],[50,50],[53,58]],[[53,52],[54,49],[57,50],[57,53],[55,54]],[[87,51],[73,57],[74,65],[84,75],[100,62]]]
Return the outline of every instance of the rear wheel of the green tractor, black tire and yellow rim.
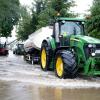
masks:
[[[45,58],[43,58],[43,52],[45,53],[45,54],[44,54]],[[43,61],[43,59],[44,59],[45,61]],[[40,61],[41,69],[42,69],[43,71],[50,70],[50,61],[51,61],[50,46],[48,45],[47,42],[43,42],[42,45],[41,45],[41,61]],[[43,64],[43,62],[44,62],[45,64]]]

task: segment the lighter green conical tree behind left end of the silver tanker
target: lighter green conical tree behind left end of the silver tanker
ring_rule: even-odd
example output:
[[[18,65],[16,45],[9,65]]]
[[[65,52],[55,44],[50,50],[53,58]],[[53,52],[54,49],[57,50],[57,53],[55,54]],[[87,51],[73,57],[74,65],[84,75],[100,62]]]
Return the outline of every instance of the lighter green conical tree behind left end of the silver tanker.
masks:
[[[16,26],[16,33],[18,39],[26,40],[28,38],[28,35],[30,35],[33,32],[33,28],[30,24],[31,20],[31,15],[30,13],[28,13],[26,7],[21,7],[21,19],[19,20],[18,25]]]

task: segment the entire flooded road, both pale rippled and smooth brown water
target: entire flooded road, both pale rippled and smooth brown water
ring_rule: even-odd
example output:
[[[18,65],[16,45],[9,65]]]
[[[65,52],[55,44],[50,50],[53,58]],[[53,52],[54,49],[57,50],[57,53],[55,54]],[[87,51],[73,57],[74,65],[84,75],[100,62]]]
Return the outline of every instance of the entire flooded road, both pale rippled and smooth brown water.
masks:
[[[100,100],[100,78],[58,79],[10,51],[0,56],[0,100]]]

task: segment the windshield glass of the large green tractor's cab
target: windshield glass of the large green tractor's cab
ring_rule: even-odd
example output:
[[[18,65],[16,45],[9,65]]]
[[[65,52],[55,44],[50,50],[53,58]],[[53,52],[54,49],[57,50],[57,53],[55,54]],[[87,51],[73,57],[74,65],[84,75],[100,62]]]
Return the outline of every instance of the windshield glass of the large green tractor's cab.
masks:
[[[83,25],[82,22],[72,22],[64,21],[61,24],[60,29],[61,34],[66,33],[67,35],[80,35],[83,34]]]

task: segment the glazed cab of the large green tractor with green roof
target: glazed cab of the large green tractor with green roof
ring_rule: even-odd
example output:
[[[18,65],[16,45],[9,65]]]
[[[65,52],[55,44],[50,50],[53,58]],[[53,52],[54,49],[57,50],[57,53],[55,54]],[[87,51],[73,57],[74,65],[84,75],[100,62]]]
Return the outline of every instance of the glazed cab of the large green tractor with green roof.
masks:
[[[58,18],[54,24],[54,38],[57,44],[64,44],[64,39],[69,42],[72,35],[84,35],[84,21],[76,18]],[[69,43],[67,44],[69,45]]]

